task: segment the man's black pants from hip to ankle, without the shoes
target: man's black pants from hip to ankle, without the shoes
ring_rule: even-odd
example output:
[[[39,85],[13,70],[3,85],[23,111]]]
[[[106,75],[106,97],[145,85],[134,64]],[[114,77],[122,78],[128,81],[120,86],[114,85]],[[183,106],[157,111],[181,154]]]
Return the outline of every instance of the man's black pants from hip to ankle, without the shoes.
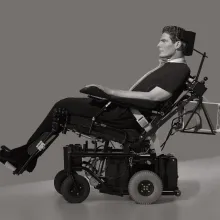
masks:
[[[27,145],[37,140],[42,133],[50,132],[52,129],[52,113],[55,108],[65,108],[71,115],[91,118],[100,112],[106,101],[96,101],[91,98],[65,98],[52,107],[48,115],[40,124],[38,129],[27,141]],[[111,104],[107,111],[98,117],[99,120],[116,128],[138,128],[136,119],[127,108]]]

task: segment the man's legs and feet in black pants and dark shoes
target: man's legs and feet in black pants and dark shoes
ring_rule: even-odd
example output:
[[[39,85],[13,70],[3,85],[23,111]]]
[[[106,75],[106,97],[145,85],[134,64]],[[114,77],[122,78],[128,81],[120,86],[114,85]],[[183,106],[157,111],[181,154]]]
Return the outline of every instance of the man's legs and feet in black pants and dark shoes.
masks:
[[[31,143],[35,142],[44,132],[50,132],[52,129],[53,111],[55,108],[65,108],[71,115],[81,116],[92,119],[97,113],[100,112],[102,107],[107,104],[108,101],[96,101],[91,98],[65,98],[51,108],[45,119],[29,138],[27,143],[23,146],[14,148],[8,153],[7,151],[0,151],[0,161],[7,161],[9,159],[16,162],[13,163],[15,167],[21,167],[28,160],[30,155],[28,154],[28,147]],[[140,129],[136,119],[129,111],[128,108],[119,107],[115,104],[111,104],[107,111],[103,112],[99,116],[99,120],[103,123],[113,126],[115,128],[132,128]],[[80,131],[79,131],[80,132]],[[26,170],[32,172],[37,164],[37,157],[32,159],[28,164]]]

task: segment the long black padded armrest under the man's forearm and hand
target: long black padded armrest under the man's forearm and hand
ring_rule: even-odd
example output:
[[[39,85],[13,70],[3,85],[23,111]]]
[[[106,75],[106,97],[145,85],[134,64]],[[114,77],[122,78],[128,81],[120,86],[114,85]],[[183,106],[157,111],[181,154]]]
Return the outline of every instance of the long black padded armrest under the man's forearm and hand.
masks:
[[[81,93],[88,94],[90,97],[94,97],[96,99],[106,99],[109,100],[119,106],[123,107],[134,107],[138,109],[155,109],[158,105],[161,105],[160,101],[151,101],[146,99],[132,99],[132,98],[124,98],[119,96],[112,96],[97,88],[96,86],[84,87],[80,90]]]

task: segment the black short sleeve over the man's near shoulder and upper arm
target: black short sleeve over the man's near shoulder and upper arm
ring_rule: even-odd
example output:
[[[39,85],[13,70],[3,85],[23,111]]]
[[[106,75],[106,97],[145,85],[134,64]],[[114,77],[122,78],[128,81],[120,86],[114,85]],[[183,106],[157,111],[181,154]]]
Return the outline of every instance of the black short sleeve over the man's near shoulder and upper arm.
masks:
[[[189,76],[190,69],[186,65],[172,65],[163,74],[163,77],[161,77],[156,86],[173,94],[175,91],[184,86]]]

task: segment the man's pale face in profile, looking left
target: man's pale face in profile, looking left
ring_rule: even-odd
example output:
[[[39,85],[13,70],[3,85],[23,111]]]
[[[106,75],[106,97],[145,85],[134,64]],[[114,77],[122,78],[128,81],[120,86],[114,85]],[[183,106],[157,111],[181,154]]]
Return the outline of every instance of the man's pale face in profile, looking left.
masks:
[[[167,33],[163,33],[160,42],[157,45],[159,49],[159,57],[160,58],[171,58],[175,52],[176,52],[176,47],[175,44],[171,41],[170,35]]]

